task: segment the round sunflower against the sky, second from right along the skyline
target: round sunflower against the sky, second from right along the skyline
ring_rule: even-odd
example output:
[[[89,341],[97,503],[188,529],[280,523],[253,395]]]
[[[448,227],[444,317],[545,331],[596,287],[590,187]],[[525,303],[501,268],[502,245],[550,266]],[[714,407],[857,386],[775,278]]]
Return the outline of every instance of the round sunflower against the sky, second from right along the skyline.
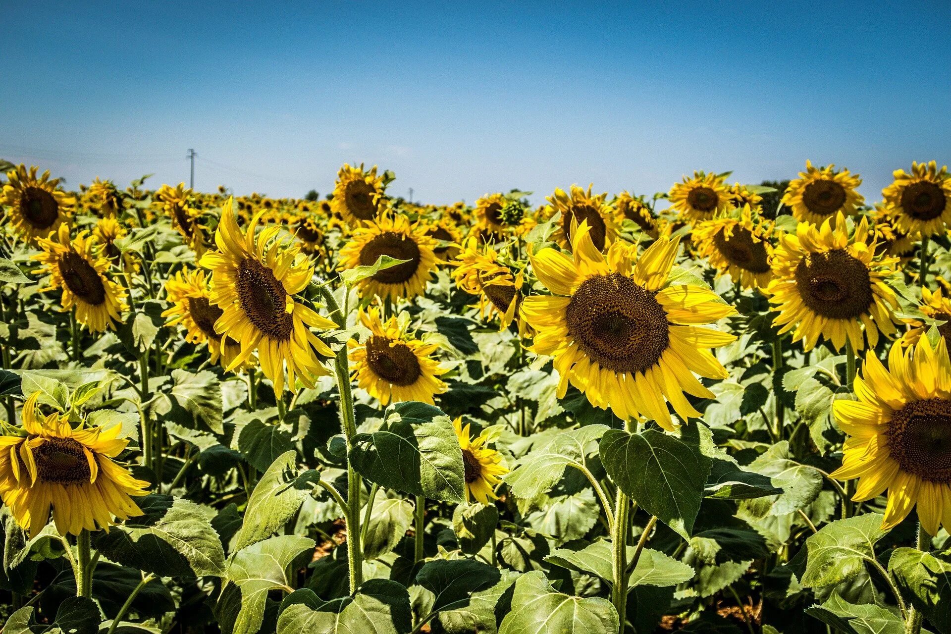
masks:
[[[783,204],[792,209],[792,215],[800,222],[822,224],[835,221],[836,214],[853,215],[865,199],[856,191],[862,184],[858,175],[847,169],[835,171],[835,165],[813,167],[805,162],[805,172],[789,183],[783,194]]]

